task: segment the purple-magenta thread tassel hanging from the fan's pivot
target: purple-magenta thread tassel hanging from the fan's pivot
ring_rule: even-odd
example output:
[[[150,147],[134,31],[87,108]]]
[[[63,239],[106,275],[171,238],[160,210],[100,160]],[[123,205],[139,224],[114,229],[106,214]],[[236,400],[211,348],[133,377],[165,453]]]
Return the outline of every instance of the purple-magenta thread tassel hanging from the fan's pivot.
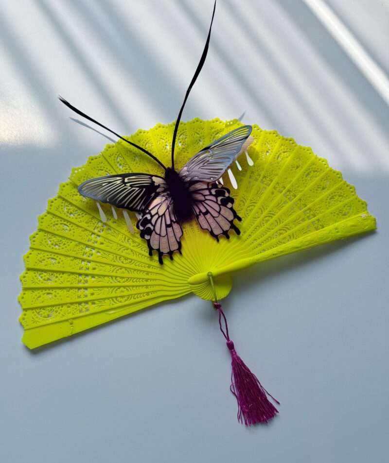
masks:
[[[232,373],[230,390],[238,402],[238,421],[241,423],[244,421],[246,426],[255,425],[256,423],[266,423],[278,413],[278,410],[267,399],[266,395],[271,397],[278,405],[280,405],[280,402],[265,390],[259,379],[250,372],[244,361],[236,353],[234,343],[229,337],[227,319],[222,306],[218,302],[214,302],[213,307],[219,311],[220,330],[227,340],[227,347],[231,353]],[[222,327],[222,317],[226,331]]]

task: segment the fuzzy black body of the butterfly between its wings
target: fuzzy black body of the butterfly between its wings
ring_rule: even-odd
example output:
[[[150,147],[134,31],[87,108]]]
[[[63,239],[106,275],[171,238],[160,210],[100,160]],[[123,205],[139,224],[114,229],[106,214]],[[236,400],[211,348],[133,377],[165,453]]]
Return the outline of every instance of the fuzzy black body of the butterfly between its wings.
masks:
[[[193,217],[192,197],[189,192],[190,182],[185,182],[178,172],[168,167],[165,171],[165,182],[173,199],[173,208],[179,223]]]

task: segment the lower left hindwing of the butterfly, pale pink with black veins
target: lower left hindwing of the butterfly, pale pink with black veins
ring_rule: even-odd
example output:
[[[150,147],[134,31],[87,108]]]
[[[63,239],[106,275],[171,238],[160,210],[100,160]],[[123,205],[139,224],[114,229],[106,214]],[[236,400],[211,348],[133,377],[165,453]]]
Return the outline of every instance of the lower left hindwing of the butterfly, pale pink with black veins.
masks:
[[[160,264],[163,264],[164,254],[168,254],[171,259],[175,251],[181,254],[182,229],[177,222],[169,192],[161,193],[153,199],[139,219],[137,228],[141,230],[141,238],[147,241],[149,255],[158,251]]]

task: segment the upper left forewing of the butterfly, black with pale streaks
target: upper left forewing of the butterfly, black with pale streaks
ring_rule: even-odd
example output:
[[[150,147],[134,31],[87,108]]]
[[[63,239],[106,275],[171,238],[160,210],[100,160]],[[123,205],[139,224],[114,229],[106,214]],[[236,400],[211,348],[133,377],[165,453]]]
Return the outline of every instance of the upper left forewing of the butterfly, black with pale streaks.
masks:
[[[147,173],[119,173],[92,178],[78,187],[83,196],[134,212],[142,212],[157,194],[166,189],[162,177]]]

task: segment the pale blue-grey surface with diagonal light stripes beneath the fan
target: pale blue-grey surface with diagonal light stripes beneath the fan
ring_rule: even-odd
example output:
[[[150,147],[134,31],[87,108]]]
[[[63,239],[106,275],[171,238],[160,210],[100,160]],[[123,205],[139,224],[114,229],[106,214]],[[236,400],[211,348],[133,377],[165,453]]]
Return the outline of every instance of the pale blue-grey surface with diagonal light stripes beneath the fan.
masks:
[[[377,217],[375,233],[234,278],[231,337],[281,402],[270,424],[236,422],[229,353],[194,295],[34,352],[20,342],[37,216],[107,141],[57,94],[123,134],[176,119],[211,11],[212,0],[0,1],[1,462],[389,461],[387,0],[219,0],[185,109],[184,120],[245,113],[312,146]]]

